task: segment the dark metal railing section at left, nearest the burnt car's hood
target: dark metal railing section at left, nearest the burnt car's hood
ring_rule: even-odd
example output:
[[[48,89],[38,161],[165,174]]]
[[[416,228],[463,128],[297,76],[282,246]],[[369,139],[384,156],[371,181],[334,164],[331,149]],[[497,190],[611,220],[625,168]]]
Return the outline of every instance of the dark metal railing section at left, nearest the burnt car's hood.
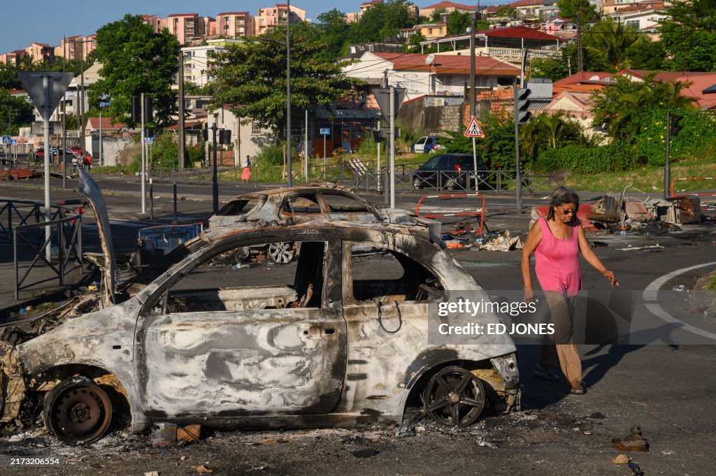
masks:
[[[6,200],[9,201],[9,200]],[[6,204],[7,206],[7,204]],[[11,204],[9,213],[16,208]],[[42,213],[40,213],[42,211]],[[29,216],[36,217],[36,223],[26,223]],[[37,284],[57,278],[59,286],[64,286],[64,277],[82,266],[82,213],[62,205],[52,205],[51,220],[44,221],[44,205],[35,203],[31,215],[21,219],[20,225],[11,227],[14,269],[15,299],[19,301],[20,291]],[[44,230],[49,228],[45,235]],[[32,261],[20,276],[20,248],[31,251]],[[46,258],[46,250],[50,248],[50,259]],[[54,253],[57,251],[57,253]],[[72,264],[71,263],[72,260]],[[45,263],[54,276],[28,281],[29,274],[38,264]]]

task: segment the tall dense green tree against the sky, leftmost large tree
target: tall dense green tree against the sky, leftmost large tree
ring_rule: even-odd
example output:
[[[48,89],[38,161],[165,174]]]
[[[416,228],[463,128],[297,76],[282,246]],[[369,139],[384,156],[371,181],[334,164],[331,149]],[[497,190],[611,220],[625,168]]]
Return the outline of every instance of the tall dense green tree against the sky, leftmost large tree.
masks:
[[[100,98],[111,97],[107,115],[118,122],[132,124],[132,97],[145,93],[152,97],[155,126],[173,122],[177,94],[172,82],[177,72],[179,42],[164,29],[155,33],[140,15],[97,30],[97,61],[102,63],[100,79],[89,88],[89,102],[95,107]]]

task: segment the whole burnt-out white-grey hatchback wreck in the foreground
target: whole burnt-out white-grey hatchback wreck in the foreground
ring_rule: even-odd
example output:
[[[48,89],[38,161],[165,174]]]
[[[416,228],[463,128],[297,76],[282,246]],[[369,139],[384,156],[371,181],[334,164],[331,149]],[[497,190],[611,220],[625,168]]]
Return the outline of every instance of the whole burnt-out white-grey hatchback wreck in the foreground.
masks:
[[[105,228],[101,195],[84,173],[81,187]],[[116,288],[105,278],[104,293],[54,319],[4,329],[0,424],[33,398],[69,444],[96,441],[113,420],[135,432],[153,422],[370,425],[400,423],[422,401],[454,427],[475,422],[490,399],[516,406],[509,336],[429,343],[430,303],[460,291],[489,296],[421,233],[332,220],[211,228]],[[106,228],[100,235],[111,253]],[[300,243],[294,263],[218,264],[235,248],[281,241]],[[367,245],[380,252],[355,253]]]

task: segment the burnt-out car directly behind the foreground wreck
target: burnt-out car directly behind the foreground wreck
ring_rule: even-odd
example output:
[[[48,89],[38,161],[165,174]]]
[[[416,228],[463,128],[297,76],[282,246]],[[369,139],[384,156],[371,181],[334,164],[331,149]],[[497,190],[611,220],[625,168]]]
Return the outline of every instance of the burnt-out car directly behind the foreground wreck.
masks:
[[[407,210],[378,209],[347,190],[316,186],[238,195],[209,218],[209,225],[231,226],[256,221],[282,224],[324,219],[422,225],[423,238],[433,242],[440,239],[440,223],[434,220],[417,218]],[[273,243],[266,252],[272,261],[288,263],[294,259],[296,251],[294,243]]]

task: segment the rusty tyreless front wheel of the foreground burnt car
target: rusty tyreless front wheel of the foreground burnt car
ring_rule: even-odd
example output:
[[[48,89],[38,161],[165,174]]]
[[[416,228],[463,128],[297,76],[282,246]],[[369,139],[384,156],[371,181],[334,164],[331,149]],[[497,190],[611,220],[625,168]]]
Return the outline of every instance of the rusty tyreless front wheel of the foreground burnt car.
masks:
[[[86,377],[63,380],[49,392],[44,421],[65,443],[89,444],[109,429],[112,402],[107,392]]]

